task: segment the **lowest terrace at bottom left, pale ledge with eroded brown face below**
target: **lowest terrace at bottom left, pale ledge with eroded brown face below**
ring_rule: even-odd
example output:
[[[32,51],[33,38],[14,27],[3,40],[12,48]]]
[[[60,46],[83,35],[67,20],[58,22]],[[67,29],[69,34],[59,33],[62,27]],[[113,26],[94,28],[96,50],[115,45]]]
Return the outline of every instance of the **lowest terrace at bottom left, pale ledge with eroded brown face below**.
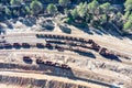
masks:
[[[99,86],[81,80],[72,80],[62,77],[23,72],[2,72],[0,73],[0,79],[1,84],[18,85],[23,87],[31,86],[40,88],[99,88]]]

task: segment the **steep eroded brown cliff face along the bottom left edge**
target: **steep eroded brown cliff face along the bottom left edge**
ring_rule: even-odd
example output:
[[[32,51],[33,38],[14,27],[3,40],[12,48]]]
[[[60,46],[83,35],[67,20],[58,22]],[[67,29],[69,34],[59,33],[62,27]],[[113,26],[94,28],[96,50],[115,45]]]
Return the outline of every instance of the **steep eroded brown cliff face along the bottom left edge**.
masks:
[[[0,76],[1,84],[18,85],[23,87],[37,87],[37,88],[89,88],[82,85],[68,84],[56,80],[33,79],[22,77]]]

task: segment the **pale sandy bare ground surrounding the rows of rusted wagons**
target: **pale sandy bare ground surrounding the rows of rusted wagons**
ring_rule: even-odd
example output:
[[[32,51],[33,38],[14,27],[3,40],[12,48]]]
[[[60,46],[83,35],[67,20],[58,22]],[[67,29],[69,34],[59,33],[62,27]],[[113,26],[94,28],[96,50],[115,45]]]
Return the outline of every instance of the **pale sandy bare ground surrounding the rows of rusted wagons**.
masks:
[[[19,26],[19,25],[20,26]],[[86,33],[73,25],[68,25],[72,29],[72,34],[65,34],[58,28],[58,24],[55,23],[55,29],[53,32],[34,32],[32,29],[28,29],[25,25],[16,22],[14,24],[15,29],[10,30],[7,32],[7,36],[4,37],[8,42],[29,42],[29,43],[45,43],[44,40],[40,40],[35,37],[36,33],[45,33],[45,34],[59,34],[59,35],[69,35],[69,36],[77,36],[84,38],[92,38],[96,43],[101,45],[102,47],[107,47],[110,51],[116,51],[117,53],[127,55],[130,59],[121,58],[122,62],[111,61],[102,57],[97,52],[89,50],[96,58],[81,56],[77,53],[73,53],[69,51],[58,52],[56,50],[37,50],[37,48],[30,48],[30,50],[0,50],[0,63],[8,63],[8,64],[20,64],[26,65],[22,61],[22,56],[30,55],[32,56],[33,61],[37,57],[43,58],[44,61],[52,61],[61,64],[67,64],[73,68],[73,73],[76,77],[86,78],[86,79],[94,79],[99,80],[102,82],[108,82],[114,86],[121,86],[121,88],[132,88],[132,40],[128,37],[121,37],[119,35],[112,34],[105,34],[100,31],[96,31],[91,28],[89,32]],[[16,26],[18,25],[18,26]],[[20,29],[22,28],[23,29]],[[34,25],[34,28],[37,28]],[[19,30],[20,29],[20,30]],[[37,28],[38,29],[38,28]],[[88,29],[86,29],[88,30]],[[4,59],[3,59],[4,58]],[[34,66],[33,63],[31,66]],[[2,76],[14,76],[14,77],[25,77],[25,78],[34,78],[34,79],[48,79],[48,80],[57,80],[64,82],[70,82],[76,85],[82,85],[90,88],[107,88],[105,86],[100,86],[97,84],[88,82],[87,80],[73,80],[67,77],[58,77],[58,76],[51,76],[47,74],[35,74],[33,72],[29,73],[15,73],[11,69],[6,70],[6,68],[0,68],[0,75]],[[20,70],[14,68],[13,70]],[[51,70],[48,70],[51,72]],[[54,70],[55,73],[57,72]],[[44,72],[43,72],[44,73]],[[15,85],[7,85],[0,84],[1,88],[25,88]],[[77,87],[78,88],[78,87]],[[85,88],[85,87],[84,87]]]

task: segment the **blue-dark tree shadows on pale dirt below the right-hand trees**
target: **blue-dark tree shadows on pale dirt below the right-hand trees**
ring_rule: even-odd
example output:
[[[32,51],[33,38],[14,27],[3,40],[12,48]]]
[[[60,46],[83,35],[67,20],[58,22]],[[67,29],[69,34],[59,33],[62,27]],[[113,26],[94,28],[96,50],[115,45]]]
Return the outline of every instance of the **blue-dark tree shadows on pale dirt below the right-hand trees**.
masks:
[[[75,25],[76,26],[76,25]],[[91,28],[91,26],[86,26],[86,28],[80,28],[80,26],[76,26],[79,30],[94,35],[94,34],[98,34],[98,35],[111,35],[114,37],[118,37],[120,40],[122,40],[123,37],[128,37],[132,40],[132,34],[131,33],[123,33],[122,31],[117,31],[116,28],[113,28],[112,25],[105,25],[102,29],[96,29],[96,28]]]

